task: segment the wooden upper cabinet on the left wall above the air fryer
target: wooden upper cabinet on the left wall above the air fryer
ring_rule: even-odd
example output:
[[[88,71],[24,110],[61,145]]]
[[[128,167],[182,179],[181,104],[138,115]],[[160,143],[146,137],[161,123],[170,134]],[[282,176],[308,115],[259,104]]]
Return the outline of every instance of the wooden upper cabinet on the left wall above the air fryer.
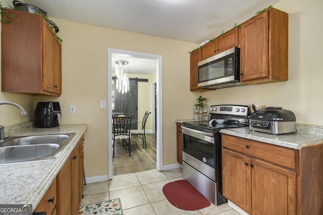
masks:
[[[60,41],[41,15],[8,12],[15,17],[2,24],[2,92],[60,96]]]

